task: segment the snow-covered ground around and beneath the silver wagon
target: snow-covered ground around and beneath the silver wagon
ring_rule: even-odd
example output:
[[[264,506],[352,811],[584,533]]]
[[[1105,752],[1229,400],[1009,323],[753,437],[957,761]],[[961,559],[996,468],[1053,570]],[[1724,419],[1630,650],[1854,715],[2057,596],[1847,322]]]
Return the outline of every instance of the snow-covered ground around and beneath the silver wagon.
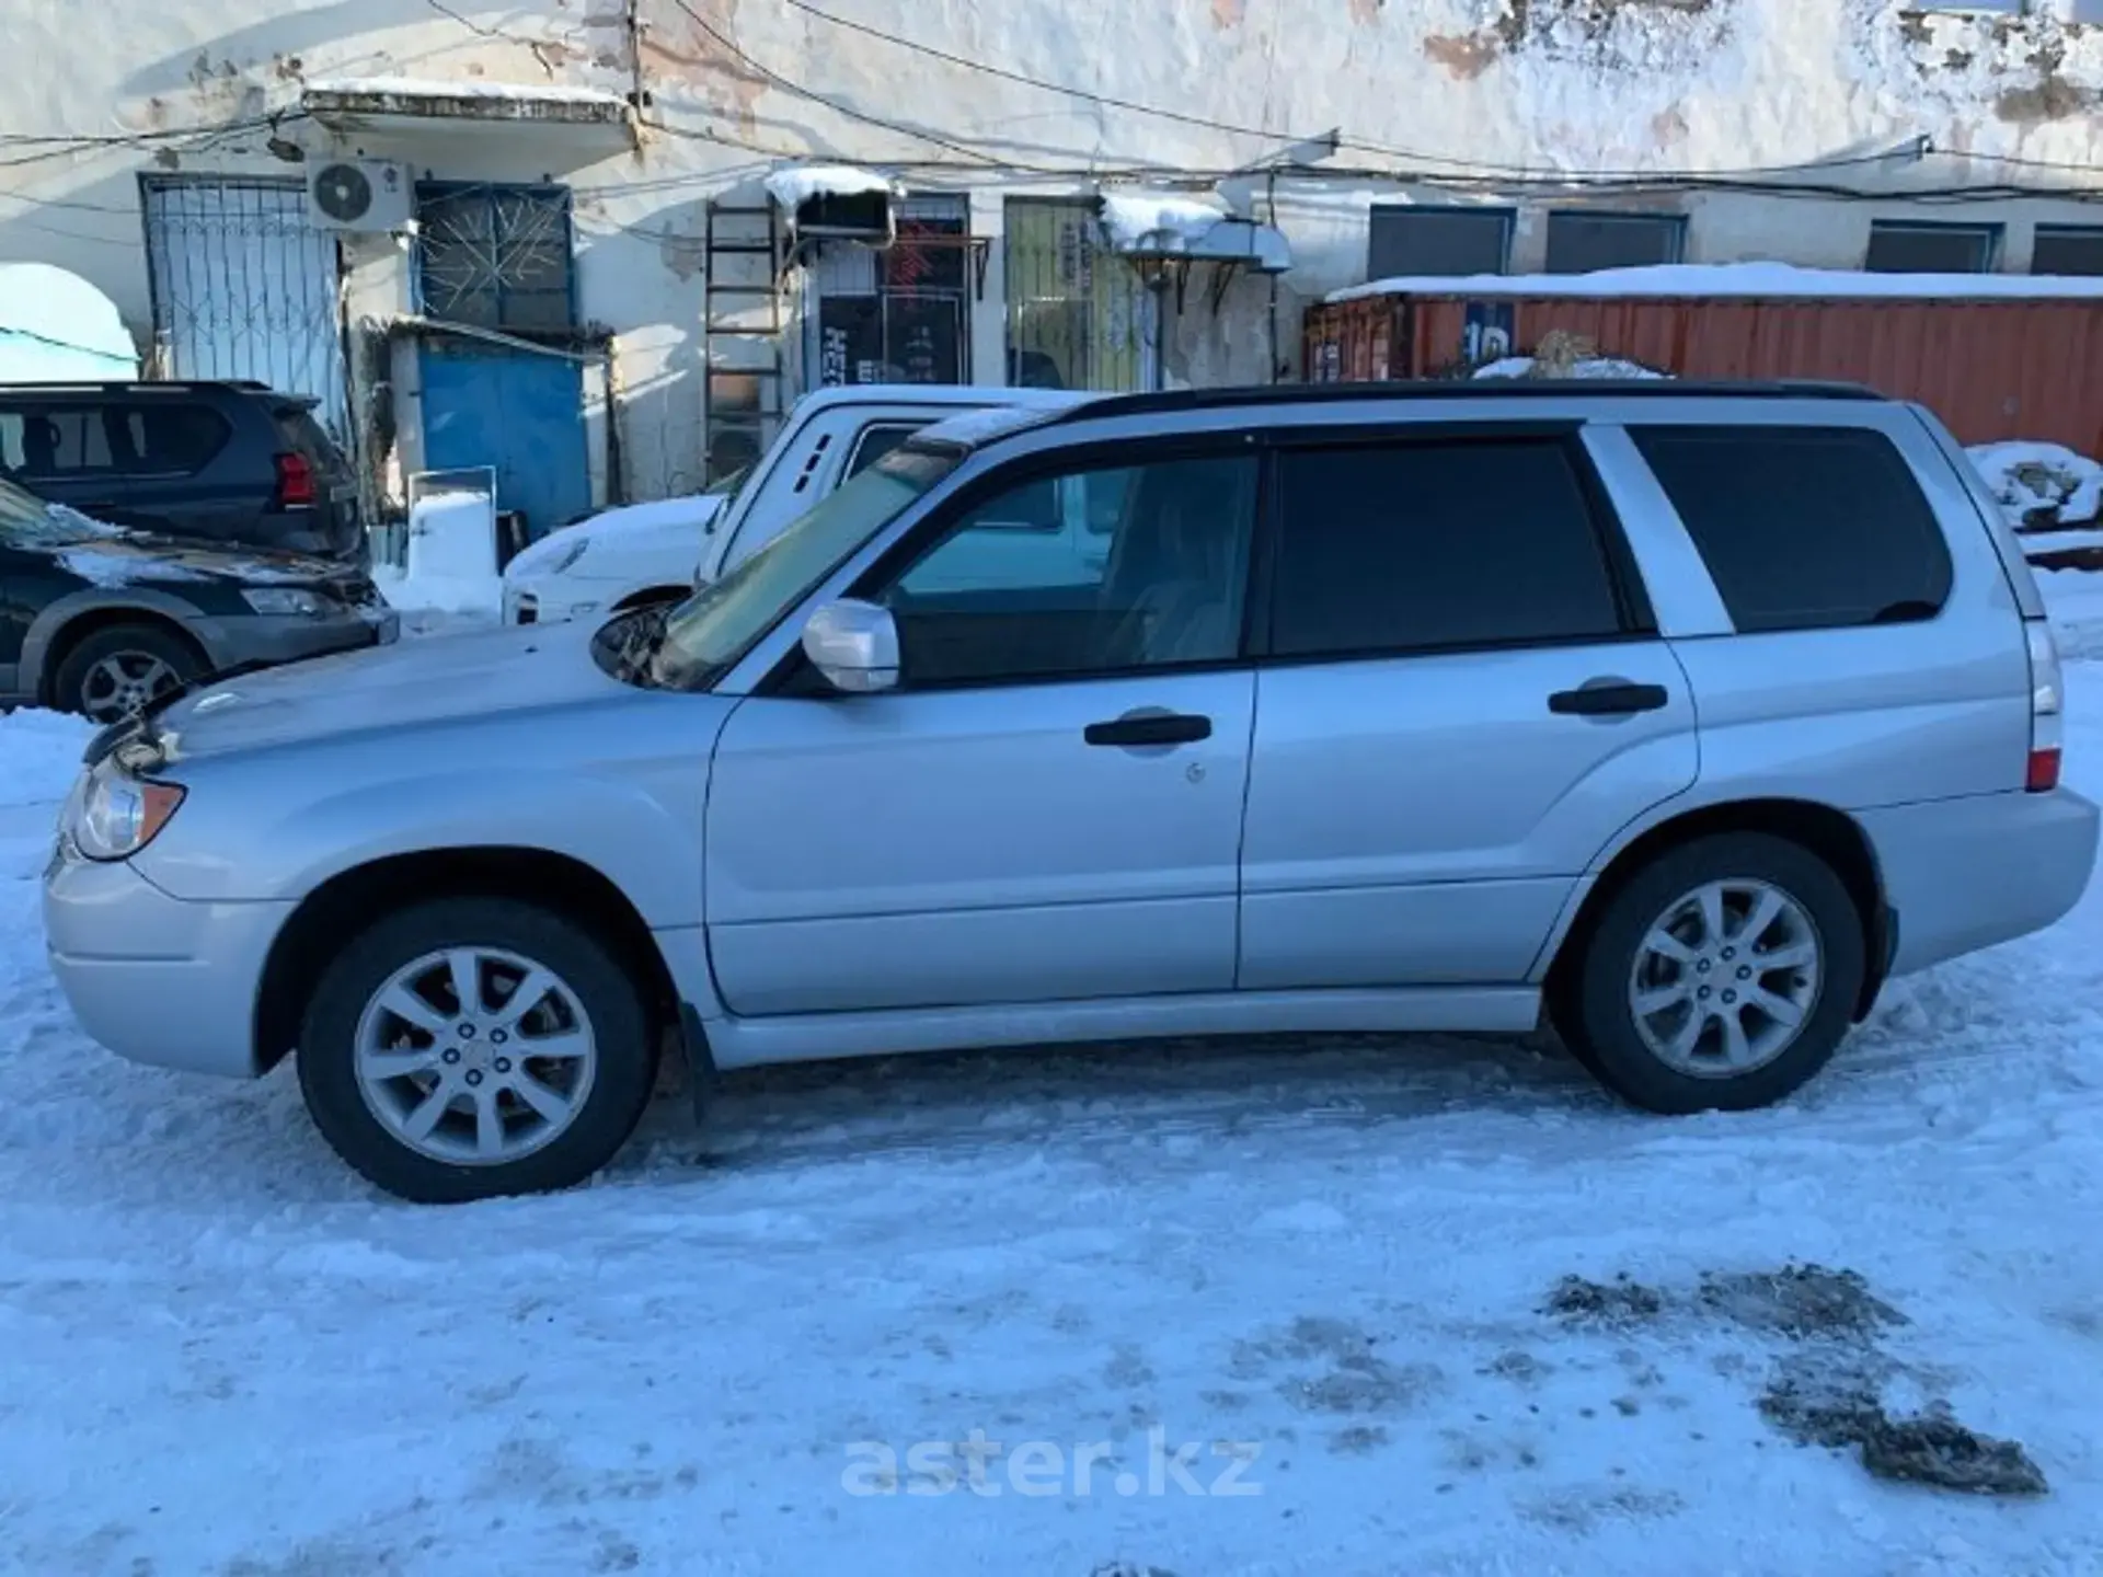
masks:
[[[2103,576],[2050,582],[2103,658]],[[2097,793],[2103,662],[2069,692]],[[284,1072],[72,1026],[78,744],[0,719],[0,1571],[2103,1571],[2103,889],[1775,1112],[1499,1039],[810,1068],[431,1211]],[[2050,1493],[1796,1445],[1819,1390],[1947,1402]]]

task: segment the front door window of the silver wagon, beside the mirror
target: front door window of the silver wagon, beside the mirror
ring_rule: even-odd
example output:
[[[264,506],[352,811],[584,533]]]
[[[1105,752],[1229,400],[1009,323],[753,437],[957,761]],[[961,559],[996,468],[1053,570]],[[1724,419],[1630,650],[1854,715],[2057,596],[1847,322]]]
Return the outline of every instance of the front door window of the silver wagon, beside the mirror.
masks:
[[[999,683],[1226,662],[1241,652],[1255,458],[1037,477],[972,509],[877,597],[902,681]],[[1108,532],[1089,532],[1115,500]]]

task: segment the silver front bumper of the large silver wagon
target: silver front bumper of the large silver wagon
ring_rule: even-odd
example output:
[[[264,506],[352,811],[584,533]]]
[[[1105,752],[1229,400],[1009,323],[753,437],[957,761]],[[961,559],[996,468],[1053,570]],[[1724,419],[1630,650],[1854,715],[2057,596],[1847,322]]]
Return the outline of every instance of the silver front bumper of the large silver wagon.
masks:
[[[254,1005],[290,902],[189,904],[130,864],[63,849],[44,873],[50,971],[80,1026],[130,1062],[252,1079]]]

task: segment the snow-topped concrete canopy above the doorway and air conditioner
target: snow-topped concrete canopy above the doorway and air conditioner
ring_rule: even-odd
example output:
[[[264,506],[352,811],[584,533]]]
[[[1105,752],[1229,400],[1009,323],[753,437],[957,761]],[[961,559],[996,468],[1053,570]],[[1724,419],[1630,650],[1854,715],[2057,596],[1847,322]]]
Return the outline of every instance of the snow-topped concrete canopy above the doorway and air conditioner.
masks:
[[[345,132],[404,137],[484,128],[515,137],[534,130],[580,143],[635,137],[635,111],[625,97],[553,82],[339,78],[309,82],[299,103],[320,124]]]

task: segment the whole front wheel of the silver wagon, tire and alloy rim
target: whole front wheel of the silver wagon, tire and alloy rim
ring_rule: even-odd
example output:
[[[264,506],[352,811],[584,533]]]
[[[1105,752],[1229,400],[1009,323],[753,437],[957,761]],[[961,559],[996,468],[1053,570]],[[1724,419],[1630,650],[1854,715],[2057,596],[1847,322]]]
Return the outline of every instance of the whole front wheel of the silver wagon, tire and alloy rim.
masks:
[[[315,1127],[416,1203],[570,1188],[635,1131],[656,1041],[629,971],[532,904],[406,908],[324,971],[299,1039]]]

